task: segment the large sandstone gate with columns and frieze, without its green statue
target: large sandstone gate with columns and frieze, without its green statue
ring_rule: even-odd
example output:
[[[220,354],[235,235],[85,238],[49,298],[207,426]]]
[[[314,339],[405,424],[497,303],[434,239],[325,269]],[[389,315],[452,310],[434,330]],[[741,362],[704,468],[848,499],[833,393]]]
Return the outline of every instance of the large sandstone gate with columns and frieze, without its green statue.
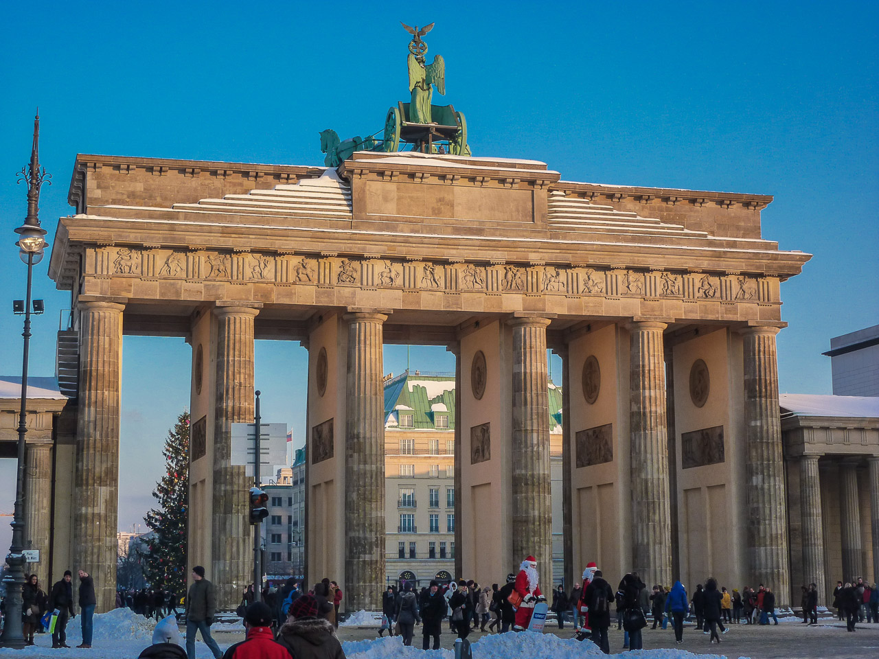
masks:
[[[385,581],[382,344],[456,361],[455,576],[528,554],[551,583],[547,348],[563,358],[567,582],[773,584],[788,600],[775,335],[809,255],[760,235],[771,197],[559,180],[544,163],[356,153],[338,170],[78,156],[50,276],[80,377],[69,562],[111,604],[123,334],[193,346],[190,560],[234,607],[253,342],[309,349],[309,582],[377,610]],[[306,387],[307,384],[307,387]],[[488,539],[488,541],[486,541]]]

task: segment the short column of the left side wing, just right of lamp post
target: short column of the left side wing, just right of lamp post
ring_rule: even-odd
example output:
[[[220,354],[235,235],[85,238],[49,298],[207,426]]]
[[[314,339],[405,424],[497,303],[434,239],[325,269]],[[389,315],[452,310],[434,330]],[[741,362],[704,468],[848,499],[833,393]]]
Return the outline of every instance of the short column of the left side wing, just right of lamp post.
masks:
[[[40,562],[28,568],[48,581],[50,524],[52,517],[52,445],[27,445],[27,475],[25,477],[25,547],[40,550]],[[38,567],[39,566],[39,567]]]

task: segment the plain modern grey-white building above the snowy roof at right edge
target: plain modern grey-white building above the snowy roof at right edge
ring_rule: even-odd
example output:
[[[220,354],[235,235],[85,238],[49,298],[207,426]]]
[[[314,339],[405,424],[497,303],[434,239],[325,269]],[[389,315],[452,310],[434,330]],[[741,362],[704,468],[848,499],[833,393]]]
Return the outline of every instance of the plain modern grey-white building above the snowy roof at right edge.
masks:
[[[830,340],[833,395],[879,396],[879,325]]]

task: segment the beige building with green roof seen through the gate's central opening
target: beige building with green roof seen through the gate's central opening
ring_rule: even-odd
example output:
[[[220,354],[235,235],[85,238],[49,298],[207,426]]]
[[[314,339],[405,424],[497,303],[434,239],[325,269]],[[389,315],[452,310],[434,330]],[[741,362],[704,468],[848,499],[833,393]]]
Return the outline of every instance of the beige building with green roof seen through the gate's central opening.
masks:
[[[563,580],[562,390],[548,389],[552,463],[553,562]],[[384,380],[386,583],[425,586],[457,574],[454,489],[454,373],[406,371]],[[478,504],[478,503],[477,503]],[[465,541],[480,551],[491,539]],[[498,579],[501,577],[498,576]],[[497,581],[497,579],[496,579]]]

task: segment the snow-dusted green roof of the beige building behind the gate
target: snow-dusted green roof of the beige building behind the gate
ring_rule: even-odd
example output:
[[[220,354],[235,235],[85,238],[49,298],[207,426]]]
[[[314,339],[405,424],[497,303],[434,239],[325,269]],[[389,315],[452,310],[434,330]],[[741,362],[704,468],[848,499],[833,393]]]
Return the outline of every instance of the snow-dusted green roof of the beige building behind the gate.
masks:
[[[394,414],[398,422],[401,411],[411,411],[412,428],[433,429],[435,416],[447,414],[448,427],[454,429],[454,373],[405,371],[386,380],[384,390],[385,419]],[[550,383],[548,394],[549,427],[553,428],[562,424],[562,387]],[[443,405],[445,410],[442,409]]]

